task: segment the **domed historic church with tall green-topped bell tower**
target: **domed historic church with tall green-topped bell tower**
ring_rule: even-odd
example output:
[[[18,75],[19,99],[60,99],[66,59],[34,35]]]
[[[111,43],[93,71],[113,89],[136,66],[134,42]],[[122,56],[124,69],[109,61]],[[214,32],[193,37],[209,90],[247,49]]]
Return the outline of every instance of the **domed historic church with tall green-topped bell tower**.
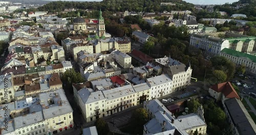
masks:
[[[92,24],[92,23],[90,23]],[[81,34],[81,33],[96,33],[96,37],[105,38],[105,24],[104,18],[102,17],[101,10],[99,11],[99,18],[97,21],[97,27],[88,27],[87,22],[84,18],[80,17],[80,13],[78,12],[77,17],[74,18],[73,28],[70,28],[70,33],[72,34]]]

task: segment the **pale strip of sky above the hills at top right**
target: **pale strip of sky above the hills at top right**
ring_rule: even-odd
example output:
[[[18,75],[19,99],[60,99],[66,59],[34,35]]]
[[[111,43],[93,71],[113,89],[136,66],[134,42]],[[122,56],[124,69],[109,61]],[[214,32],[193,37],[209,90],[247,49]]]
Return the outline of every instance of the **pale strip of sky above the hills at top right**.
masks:
[[[225,4],[225,3],[233,3],[237,2],[238,0],[183,0],[188,3],[193,4]]]

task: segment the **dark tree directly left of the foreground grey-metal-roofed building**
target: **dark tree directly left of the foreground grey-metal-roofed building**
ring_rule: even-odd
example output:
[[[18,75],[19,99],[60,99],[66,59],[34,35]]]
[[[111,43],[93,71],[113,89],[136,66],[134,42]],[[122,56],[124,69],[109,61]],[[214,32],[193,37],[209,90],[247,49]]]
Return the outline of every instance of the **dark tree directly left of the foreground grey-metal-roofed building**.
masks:
[[[143,125],[148,121],[147,111],[144,108],[138,108],[132,114],[130,119],[131,129],[134,134],[143,134]]]

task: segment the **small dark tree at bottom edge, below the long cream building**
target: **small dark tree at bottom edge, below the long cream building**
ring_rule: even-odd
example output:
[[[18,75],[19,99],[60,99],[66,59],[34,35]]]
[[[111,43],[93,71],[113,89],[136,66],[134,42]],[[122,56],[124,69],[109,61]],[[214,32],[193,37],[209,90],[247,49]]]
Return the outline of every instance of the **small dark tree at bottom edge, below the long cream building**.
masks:
[[[94,126],[96,126],[99,135],[108,134],[110,131],[108,123],[102,118],[96,120]]]

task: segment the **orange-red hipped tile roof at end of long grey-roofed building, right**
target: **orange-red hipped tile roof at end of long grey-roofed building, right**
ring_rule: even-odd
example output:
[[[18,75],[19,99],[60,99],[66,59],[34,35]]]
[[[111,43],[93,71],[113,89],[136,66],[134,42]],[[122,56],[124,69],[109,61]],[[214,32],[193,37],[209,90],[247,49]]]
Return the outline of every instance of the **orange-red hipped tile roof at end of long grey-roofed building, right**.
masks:
[[[234,90],[233,86],[231,85],[230,82],[223,82],[223,83],[219,83],[216,85],[212,85],[210,87],[211,89],[213,89],[216,92],[222,92],[223,95],[226,98],[237,98],[240,99],[240,97],[238,96],[236,90]]]

